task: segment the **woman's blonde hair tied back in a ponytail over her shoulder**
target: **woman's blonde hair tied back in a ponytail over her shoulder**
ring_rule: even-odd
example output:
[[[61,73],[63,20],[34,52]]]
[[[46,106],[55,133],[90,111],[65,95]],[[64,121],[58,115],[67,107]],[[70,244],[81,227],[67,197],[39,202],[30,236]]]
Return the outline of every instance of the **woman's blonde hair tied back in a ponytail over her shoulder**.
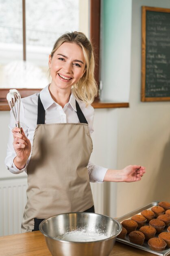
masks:
[[[83,51],[85,58],[85,73],[81,79],[72,87],[74,96],[81,99],[86,105],[91,104],[94,101],[94,97],[97,96],[98,87],[94,79],[94,53],[93,47],[88,38],[82,32],[68,32],[60,36],[54,43],[54,47],[51,52],[51,58],[54,52],[63,43],[76,43]]]

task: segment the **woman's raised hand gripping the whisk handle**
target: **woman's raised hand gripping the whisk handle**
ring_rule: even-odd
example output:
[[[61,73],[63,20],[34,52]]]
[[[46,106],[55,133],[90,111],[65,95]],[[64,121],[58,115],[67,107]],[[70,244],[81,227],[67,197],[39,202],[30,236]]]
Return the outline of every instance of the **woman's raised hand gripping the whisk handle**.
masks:
[[[21,128],[13,128],[13,147],[16,152],[16,157],[13,162],[18,169],[23,169],[26,165],[28,157],[31,154],[31,142],[26,137],[24,130]]]

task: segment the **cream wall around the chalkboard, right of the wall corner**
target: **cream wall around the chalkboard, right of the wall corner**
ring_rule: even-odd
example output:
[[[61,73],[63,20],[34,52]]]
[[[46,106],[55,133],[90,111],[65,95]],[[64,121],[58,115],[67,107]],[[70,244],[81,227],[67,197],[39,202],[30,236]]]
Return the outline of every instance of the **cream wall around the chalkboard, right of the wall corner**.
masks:
[[[125,0],[126,1],[126,0]],[[170,8],[169,0],[132,0],[130,108],[118,110],[118,168],[146,166],[141,182],[119,183],[117,216],[157,200],[170,202],[170,102],[141,102],[141,6]]]

